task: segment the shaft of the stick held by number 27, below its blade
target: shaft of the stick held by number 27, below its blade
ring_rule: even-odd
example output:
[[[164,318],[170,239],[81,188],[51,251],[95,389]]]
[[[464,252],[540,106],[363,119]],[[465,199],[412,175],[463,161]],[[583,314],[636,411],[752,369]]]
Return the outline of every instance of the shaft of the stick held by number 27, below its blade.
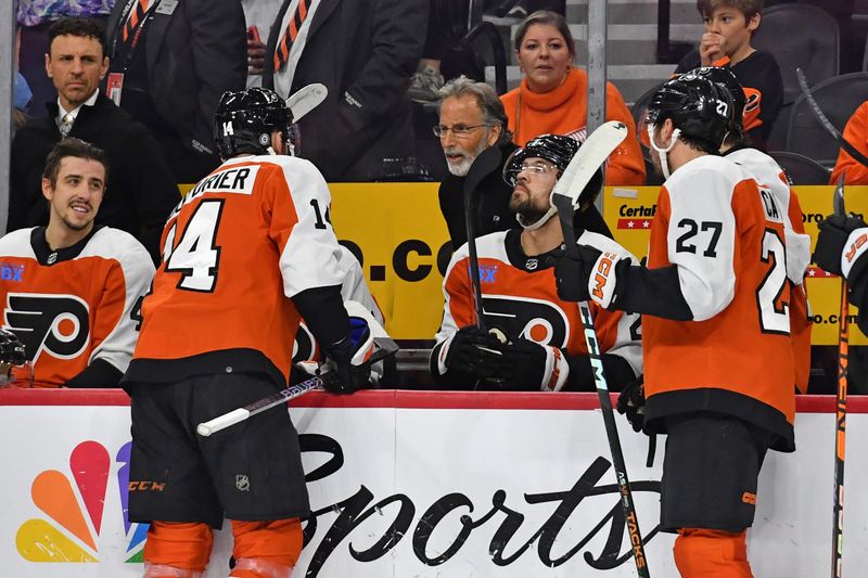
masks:
[[[566,246],[576,243],[575,232],[573,231],[573,203],[569,196],[553,194],[552,203],[558,209],[558,219],[561,221],[563,241]],[[593,382],[597,386],[597,397],[600,399],[600,410],[603,415],[605,437],[609,440],[609,451],[612,454],[612,466],[615,470],[617,488],[621,494],[621,508],[627,521],[627,534],[633,549],[633,558],[636,563],[636,571],[639,578],[650,578],[648,570],[648,558],[644,556],[644,544],[642,535],[639,530],[639,518],[636,515],[636,504],[633,501],[629,478],[627,477],[627,464],[624,461],[624,451],[621,448],[621,438],[617,434],[615,413],[612,410],[612,399],[609,397],[609,384],[605,381],[603,361],[600,354],[600,345],[597,339],[597,329],[593,324],[593,316],[590,312],[588,301],[579,301],[578,310],[582,314],[582,325],[584,327],[585,344],[588,348],[588,357],[593,371]]]

